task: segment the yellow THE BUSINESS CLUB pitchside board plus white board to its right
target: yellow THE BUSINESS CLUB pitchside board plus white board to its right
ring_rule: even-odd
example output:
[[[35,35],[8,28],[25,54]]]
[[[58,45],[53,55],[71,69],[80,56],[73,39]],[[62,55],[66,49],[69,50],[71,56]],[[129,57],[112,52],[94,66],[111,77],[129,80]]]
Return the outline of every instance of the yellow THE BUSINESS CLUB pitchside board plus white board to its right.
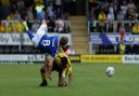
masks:
[[[80,63],[90,64],[139,64],[139,55],[80,55]]]

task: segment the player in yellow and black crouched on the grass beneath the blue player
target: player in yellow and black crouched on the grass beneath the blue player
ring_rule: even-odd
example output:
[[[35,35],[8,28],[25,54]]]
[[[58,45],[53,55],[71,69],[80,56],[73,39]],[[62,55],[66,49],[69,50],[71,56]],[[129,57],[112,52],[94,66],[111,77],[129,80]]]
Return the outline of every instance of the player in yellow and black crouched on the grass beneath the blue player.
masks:
[[[59,72],[59,86],[71,85],[73,82],[73,69],[68,55],[59,47],[59,53],[53,61],[52,71]],[[65,78],[68,76],[68,84],[66,84]]]

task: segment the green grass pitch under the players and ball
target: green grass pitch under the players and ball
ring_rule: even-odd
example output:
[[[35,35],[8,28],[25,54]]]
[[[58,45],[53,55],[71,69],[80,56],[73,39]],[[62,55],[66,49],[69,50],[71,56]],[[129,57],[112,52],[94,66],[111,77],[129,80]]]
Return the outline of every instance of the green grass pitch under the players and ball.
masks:
[[[108,66],[115,67],[108,78]],[[0,96],[138,96],[139,65],[73,64],[74,83],[58,87],[52,73],[49,86],[40,87],[41,65],[0,65]]]

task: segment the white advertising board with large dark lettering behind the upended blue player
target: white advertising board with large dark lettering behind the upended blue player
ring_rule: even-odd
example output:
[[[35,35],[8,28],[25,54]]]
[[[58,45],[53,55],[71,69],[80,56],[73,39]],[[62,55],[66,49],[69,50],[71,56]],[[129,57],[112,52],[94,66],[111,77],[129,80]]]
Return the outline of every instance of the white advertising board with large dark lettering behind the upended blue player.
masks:
[[[68,44],[72,45],[71,33],[48,33],[48,36],[59,35],[60,37],[66,36]],[[27,33],[0,33],[0,45],[31,45]]]

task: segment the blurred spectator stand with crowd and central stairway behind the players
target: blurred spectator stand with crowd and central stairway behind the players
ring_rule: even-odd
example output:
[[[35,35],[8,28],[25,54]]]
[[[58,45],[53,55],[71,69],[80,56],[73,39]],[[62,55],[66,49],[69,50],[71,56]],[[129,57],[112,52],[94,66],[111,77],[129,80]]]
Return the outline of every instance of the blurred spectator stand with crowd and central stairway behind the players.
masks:
[[[40,4],[45,5],[49,36],[66,35],[70,54],[139,54],[137,0],[0,0],[1,60],[5,55],[11,59],[13,55],[14,59],[43,57],[22,25],[27,20],[29,29],[37,31],[40,22],[35,8]]]

